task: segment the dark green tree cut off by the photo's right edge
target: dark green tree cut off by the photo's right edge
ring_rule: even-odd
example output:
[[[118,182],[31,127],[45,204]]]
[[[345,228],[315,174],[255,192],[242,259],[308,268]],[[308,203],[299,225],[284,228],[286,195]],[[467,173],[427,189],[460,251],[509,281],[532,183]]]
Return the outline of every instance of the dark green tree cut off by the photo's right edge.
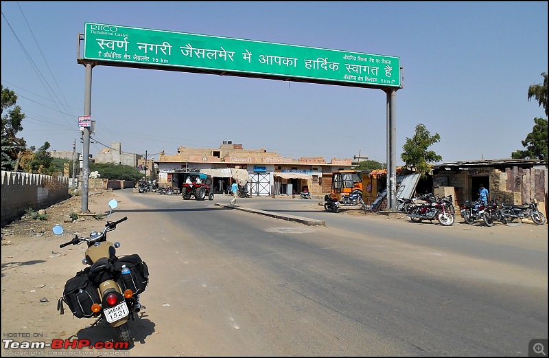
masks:
[[[544,77],[543,85],[531,85],[528,87],[528,101],[535,98],[539,107],[543,106],[547,115],[547,74],[541,72]],[[511,153],[513,159],[541,159],[547,161],[547,119],[534,118],[532,132],[528,133],[522,141],[526,150],[515,150]]]

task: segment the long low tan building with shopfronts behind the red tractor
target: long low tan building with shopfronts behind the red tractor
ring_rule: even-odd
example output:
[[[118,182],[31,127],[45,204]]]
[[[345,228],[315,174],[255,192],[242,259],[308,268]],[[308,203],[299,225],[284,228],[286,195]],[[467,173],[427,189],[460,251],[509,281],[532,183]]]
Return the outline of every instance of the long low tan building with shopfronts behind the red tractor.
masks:
[[[331,172],[351,169],[351,159],[323,157],[281,157],[265,148],[244,149],[242,144],[224,141],[219,148],[188,148],[180,146],[176,155],[160,153],[159,186],[181,188],[181,172],[200,170],[213,177],[213,192],[228,192],[235,173],[248,174],[248,191],[255,196],[299,194],[305,188],[313,195],[322,195],[331,188]]]

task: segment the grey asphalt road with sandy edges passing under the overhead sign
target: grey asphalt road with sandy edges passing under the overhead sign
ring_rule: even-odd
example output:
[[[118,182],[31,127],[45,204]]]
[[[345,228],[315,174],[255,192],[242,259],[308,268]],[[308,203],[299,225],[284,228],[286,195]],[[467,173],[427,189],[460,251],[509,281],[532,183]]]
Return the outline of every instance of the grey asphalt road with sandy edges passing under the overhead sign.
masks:
[[[152,272],[143,300],[174,342],[162,355],[527,355],[547,337],[546,227],[237,201],[326,221],[310,227],[215,205],[230,199],[129,193],[117,209],[127,234],[152,233],[139,247]],[[132,353],[159,352],[150,329],[134,328],[144,344]]]

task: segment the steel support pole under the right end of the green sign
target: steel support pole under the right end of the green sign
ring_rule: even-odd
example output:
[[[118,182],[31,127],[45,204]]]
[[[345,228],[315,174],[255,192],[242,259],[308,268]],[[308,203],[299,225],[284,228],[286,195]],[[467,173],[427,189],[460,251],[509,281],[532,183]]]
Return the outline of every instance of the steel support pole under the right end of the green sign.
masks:
[[[397,208],[397,89],[387,94],[387,210]]]

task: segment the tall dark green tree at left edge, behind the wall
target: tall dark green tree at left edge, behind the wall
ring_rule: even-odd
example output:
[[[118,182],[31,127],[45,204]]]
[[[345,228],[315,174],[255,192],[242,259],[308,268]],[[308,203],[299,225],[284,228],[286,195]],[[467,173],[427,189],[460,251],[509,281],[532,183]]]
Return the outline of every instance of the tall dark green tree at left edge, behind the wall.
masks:
[[[14,91],[1,86],[2,90],[2,170],[17,171],[19,168],[20,154],[25,150],[25,139],[18,138],[17,133],[23,130],[21,122],[25,114],[21,113],[21,107],[16,105],[17,96]],[[4,109],[8,109],[4,115]]]

